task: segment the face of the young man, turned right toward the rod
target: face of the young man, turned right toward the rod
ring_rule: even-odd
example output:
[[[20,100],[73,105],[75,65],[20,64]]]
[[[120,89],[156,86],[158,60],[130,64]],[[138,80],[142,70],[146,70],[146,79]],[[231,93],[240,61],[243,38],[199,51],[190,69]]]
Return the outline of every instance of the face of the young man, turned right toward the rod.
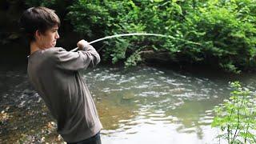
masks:
[[[56,46],[58,38],[58,25],[55,25],[50,30],[46,30],[44,34],[40,34],[38,38],[38,43],[40,45],[40,48],[48,49],[50,47]]]

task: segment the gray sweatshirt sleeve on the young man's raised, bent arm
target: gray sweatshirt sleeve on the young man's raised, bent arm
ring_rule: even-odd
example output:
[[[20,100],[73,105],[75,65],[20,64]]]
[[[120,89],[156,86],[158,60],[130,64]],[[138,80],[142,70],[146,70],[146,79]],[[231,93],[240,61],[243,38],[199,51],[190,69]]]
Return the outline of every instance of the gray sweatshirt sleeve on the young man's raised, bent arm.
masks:
[[[63,70],[82,70],[88,66],[96,66],[100,62],[100,56],[93,46],[86,46],[84,50],[77,52],[56,50],[57,66]]]

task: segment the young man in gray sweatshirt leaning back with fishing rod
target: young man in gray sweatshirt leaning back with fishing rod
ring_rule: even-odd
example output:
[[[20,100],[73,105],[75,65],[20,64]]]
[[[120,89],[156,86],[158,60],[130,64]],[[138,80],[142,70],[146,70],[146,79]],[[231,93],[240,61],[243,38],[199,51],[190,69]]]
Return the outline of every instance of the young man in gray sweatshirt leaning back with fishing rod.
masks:
[[[30,82],[58,122],[58,133],[68,143],[101,143],[102,124],[79,70],[95,66],[100,57],[85,40],[78,52],[54,47],[60,20],[46,7],[32,7],[20,19],[30,40],[27,72]]]

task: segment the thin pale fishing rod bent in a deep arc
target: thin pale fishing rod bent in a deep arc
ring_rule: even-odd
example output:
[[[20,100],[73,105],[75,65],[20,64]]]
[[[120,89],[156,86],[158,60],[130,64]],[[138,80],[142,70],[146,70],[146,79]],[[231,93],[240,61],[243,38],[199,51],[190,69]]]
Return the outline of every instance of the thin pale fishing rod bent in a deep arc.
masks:
[[[197,43],[197,42],[191,42],[191,41],[188,41],[188,40],[185,40],[185,39],[182,39],[182,38],[175,38],[173,36],[170,36],[170,35],[164,35],[164,34],[148,34],[148,33],[130,33],[130,34],[115,34],[115,35],[111,35],[111,36],[106,36],[104,38],[98,38],[92,42],[88,42],[89,44],[93,44],[95,42],[99,42],[99,41],[102,41],[102,40],[105,40],[105,39],[110,39],[110,38],[118,38],[118,37],[126,37],[126,36],[134,36],[134,35],[147,35],[147,36],[156,36],[156,37],[164,37],[164,38],[172,38],[172,39],[176,39],[176,40],[179,40],[179,41],[183,41],[183,42],[187,42],[187,43],[191,43],[191,44],[194,44],[194,45],[198,45],[198,46],[201,46],[200,43]],[[73,50],[70,50],[71,52],[74,52],[78,50],[78,47],[74,48]]]

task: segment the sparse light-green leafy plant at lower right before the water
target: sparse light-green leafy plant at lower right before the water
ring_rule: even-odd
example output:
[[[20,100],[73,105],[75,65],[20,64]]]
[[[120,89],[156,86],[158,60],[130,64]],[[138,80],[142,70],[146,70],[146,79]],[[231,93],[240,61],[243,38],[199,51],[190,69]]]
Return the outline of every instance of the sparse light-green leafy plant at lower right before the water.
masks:
[[[230,99],[224,100],[220,106],[215,106],[216,116],[212,122],[213,127],[218,127],[223,138],[228,143],[255,143],[256,142],[256,105],[255,95],[239,84],[232,82],[234,91]]]

